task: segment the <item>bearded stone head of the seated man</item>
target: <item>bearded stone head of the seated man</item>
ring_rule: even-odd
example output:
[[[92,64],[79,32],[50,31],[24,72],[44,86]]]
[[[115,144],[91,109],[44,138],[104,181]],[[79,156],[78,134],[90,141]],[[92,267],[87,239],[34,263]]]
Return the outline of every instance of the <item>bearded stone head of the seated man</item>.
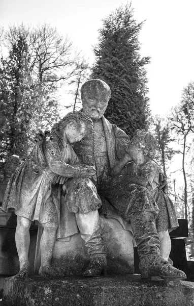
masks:
[[[108,106],[111,90],[107,83],[99,79],[85,82],[81,87],[83,112],[91,119],[100,119]]]

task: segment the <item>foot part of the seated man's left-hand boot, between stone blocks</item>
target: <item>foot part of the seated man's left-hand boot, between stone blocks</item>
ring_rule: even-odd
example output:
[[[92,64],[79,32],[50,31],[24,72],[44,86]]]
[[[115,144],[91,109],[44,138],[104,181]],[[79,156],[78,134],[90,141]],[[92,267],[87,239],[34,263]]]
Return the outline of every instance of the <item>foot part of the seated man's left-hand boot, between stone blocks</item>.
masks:
[[[103,272],[106,275],[106,268],[107,268],[107,259],[106,256],[99,256],[93,258],[88,267],[82,273],[85,277],[97,277],[100,276]]]

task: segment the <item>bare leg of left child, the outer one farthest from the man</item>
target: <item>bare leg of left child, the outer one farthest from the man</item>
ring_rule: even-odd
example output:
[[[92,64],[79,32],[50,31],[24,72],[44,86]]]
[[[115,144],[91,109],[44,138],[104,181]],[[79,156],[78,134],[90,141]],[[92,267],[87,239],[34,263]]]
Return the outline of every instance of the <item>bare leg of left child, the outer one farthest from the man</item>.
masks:
[[[28,261],[28,251],[29,251],[29,227],[31,221],[25,217],[17,216],[17,226],[15,233],[16,247],[19,257],[20,271],[17,276],[24,277],[29,275],[29,261]]]

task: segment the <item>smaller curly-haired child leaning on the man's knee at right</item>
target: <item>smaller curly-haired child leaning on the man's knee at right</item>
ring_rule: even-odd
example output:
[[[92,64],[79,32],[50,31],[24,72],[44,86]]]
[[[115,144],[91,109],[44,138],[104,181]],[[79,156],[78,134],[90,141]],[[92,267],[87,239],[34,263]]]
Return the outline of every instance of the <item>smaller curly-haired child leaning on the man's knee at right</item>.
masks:
[[[163,187],[164,177],[161,177],[157,164],[153,161],[156,150],[156,140],[154,136],[145,130],[136,130],[134,137],[128,147],[128,155],[133,162],[128,162],[127,154],[113,167],[111,174],[118,175],[126,164],[127,180],[132,184],[146,187],[153,196],[159,212],[156,218],[156,229],[160,242],[161,257],[169,262],[171,251],[171,239],[169,232],[175,230],[178,219],[173,202],[167,195],[166,188]]]

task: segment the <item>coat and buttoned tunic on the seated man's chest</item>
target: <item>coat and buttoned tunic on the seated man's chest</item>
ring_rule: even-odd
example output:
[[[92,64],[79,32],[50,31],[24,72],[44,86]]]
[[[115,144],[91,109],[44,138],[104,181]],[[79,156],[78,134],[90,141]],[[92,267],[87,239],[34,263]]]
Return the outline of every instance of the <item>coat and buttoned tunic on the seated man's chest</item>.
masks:
[[[124,155],[128,141],[130,138],[122,130],[102,117],[93,120],[93,133],[74,145],[81,162],[96,168],[98,187]]]

